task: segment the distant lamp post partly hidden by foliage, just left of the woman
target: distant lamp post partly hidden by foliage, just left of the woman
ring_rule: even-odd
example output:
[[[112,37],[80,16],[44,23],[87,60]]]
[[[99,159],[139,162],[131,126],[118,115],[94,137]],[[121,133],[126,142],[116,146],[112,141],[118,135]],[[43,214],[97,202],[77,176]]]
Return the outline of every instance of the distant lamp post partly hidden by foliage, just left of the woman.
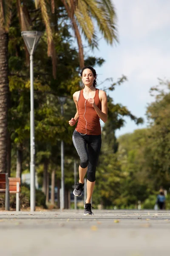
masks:
[[[61,105],[61,115],[64,114],[63,105],[66,101],[65,96],[58,97],[59,103]],[[64,142],[61,140],[61,202],[60,202],[60,209],[64,209]]]

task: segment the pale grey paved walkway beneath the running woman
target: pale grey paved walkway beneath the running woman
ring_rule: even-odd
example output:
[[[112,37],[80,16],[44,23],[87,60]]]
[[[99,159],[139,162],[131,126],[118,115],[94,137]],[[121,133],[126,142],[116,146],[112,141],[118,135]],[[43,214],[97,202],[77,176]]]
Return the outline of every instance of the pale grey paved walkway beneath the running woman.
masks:
[[[2,256],[169,256],[170,211],[0,212]]]

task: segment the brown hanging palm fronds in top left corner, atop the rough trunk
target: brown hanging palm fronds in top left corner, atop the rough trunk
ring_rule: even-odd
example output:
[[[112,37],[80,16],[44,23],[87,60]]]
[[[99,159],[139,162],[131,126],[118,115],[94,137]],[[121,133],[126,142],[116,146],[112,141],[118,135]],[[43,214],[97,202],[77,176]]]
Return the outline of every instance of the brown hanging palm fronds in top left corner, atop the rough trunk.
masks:
[[[0,27],[8,32],[11,23],[12,0],[0,0]]]

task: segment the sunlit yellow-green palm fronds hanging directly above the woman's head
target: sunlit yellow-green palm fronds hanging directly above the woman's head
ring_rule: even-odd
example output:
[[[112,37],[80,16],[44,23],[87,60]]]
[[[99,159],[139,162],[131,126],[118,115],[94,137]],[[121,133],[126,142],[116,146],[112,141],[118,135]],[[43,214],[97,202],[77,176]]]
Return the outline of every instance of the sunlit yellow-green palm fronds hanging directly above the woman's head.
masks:
[[[114,6],[111,0],[62,0],[62,3],[65,6],[77,38],[79,63],[80,68],[82,68],[84,66],[84,54],[81,32],[92,48],[97,47],[95,21],[108,44],[118,41]]]

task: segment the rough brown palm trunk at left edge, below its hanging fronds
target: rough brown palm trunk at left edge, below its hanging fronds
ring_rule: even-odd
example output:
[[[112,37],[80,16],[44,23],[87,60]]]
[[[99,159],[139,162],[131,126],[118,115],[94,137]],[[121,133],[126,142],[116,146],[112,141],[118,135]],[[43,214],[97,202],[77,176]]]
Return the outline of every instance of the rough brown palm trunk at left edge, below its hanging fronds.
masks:
[[[6,172],[8,92],[8,34],[0,27],[0,172]]]

